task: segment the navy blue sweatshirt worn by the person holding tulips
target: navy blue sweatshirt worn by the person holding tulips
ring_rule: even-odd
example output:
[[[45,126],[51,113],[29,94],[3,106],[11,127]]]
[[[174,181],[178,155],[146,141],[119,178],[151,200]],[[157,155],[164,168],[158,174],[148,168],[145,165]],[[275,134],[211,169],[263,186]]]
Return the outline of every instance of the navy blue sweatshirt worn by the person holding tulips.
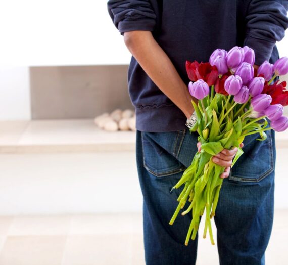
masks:
[[[288,27],[288,1],[268,0],[109,0],[108,12],[120,33],[151,31],[188,85],[185,61],[208,62],[217,49],[254,49],[260,65],[278,58],[276,41]],[[154,84],[132,56],[129,95],[140,131],[186,129],[186,116]]]

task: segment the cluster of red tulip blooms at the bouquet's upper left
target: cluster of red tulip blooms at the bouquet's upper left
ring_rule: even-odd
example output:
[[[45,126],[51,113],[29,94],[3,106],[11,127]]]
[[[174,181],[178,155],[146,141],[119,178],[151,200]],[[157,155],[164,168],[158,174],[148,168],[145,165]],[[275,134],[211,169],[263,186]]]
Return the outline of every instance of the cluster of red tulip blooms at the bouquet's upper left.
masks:
[[[186,61],[186,71],[191,81],[197,81],[199,79],[204,80],[208,85],[216,83],[219,73],[216,66],[211,66],[210,63],[193,63]]]

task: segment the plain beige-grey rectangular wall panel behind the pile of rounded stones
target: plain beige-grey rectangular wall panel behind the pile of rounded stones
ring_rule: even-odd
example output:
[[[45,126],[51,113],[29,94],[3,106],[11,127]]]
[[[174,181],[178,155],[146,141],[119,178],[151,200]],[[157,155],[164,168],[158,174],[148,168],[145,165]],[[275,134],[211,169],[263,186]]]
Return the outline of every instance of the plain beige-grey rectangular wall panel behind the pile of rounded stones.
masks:
[[[128,65],[30,67],[32,119],[93,118],[132,108]]]

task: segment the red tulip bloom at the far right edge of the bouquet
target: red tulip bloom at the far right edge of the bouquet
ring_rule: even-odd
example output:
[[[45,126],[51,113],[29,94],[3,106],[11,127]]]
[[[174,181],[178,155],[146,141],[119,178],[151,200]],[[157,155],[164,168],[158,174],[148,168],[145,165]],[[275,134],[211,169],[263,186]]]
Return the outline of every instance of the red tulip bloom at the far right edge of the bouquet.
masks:
[[[263,94],[268,94],[272,97],[272,103],[281,104],[283,106],[288,105],[288,91],[286,91],[286,81],[283,81],[278,84],[279,81],[276,81],[273,84],[268,85],[268,82],[265,81],[264,89],[262,91]]]

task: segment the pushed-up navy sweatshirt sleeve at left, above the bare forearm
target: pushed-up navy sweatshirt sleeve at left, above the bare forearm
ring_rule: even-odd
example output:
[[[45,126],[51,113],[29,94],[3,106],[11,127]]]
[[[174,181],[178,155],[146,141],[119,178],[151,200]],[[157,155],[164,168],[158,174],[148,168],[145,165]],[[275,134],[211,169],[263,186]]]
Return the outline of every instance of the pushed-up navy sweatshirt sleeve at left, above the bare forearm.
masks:
[[[156,26],[156,15],[149,0],[109,0],[107,7],[122,35],[133,30],[153,31]]]

